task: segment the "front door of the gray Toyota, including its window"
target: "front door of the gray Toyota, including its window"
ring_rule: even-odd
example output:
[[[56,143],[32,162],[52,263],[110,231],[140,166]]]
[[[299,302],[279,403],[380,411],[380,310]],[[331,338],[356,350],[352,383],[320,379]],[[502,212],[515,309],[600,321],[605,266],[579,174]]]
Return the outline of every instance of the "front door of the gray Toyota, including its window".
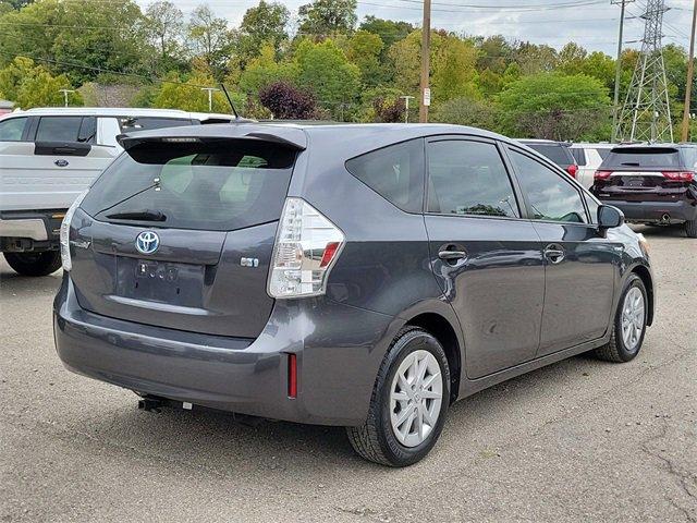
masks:
[[[602,337],[612,315],[621,245],[601,234],[597,202],[555,167],[510,146],[545,257],[545,312],[538,356]],[[592,209],[591,209],[592,207]]]

